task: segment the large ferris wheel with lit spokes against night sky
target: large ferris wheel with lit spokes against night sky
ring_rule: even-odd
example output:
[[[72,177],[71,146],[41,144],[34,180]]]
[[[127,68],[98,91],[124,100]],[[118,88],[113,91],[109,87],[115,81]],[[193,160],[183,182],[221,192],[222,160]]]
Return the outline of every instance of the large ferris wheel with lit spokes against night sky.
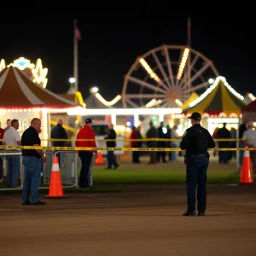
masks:
[[[178,108],[218,76],[212,61],[184,45],[162,45],[137,58],[125,75],[123,108]]]

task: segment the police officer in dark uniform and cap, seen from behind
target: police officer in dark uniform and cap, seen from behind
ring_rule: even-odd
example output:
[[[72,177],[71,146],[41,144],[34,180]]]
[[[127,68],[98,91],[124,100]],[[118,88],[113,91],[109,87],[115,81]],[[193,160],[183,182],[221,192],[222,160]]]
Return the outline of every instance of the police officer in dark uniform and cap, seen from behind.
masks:
[[[189,117],[191,127],[184,132],[180,148],[186,150],[184,162],[187,182],[188,209],[183,216],[195,216],[195,188],[197,184],[198,216],[204,216],[207,206],[207,168],[210,155],[208,148],[215,148],[215,143],[207,129],[201,127],[201,114],[194,112]]]

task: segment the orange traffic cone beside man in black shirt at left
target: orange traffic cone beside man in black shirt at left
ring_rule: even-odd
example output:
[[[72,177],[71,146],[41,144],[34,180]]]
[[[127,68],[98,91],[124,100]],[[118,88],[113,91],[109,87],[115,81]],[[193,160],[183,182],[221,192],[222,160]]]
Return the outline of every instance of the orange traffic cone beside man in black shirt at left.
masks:
[[[61,184],[61,172],[59,166],[59,160],[54,157],[50,182],[49,182],[49,195],[45,195],[46,198],[66,198],[67,195],[63,195],[63,189]]]

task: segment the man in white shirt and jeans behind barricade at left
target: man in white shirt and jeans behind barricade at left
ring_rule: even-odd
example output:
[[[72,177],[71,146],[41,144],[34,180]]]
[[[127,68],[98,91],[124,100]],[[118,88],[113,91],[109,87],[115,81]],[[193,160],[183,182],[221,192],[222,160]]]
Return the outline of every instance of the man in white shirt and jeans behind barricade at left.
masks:
[[[19,131],[19,120],[13,119],[11,126],[3,135],[3,145],[21,145],[21,137]],[[20,153],[20,149],[11,149],[13,153]],[[7,175],[6,184],[9,189],[17,188],[18,177],[20,174],[20,154],[7,154]]]

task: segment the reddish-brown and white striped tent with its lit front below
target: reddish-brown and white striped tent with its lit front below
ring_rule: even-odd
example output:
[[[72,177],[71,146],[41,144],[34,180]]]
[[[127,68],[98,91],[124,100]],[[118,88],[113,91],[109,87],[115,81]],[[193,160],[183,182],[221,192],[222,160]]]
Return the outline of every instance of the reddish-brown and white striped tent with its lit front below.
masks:
[[[47,140],[50,113],[67,113],[79,108],[83,107],[33,83],[17,67],[4,68],[0,73],[0,121],[4,125],[7,119],[19,119],[20,134],[33,118],[39,118],[42,122],[40,137]]]

